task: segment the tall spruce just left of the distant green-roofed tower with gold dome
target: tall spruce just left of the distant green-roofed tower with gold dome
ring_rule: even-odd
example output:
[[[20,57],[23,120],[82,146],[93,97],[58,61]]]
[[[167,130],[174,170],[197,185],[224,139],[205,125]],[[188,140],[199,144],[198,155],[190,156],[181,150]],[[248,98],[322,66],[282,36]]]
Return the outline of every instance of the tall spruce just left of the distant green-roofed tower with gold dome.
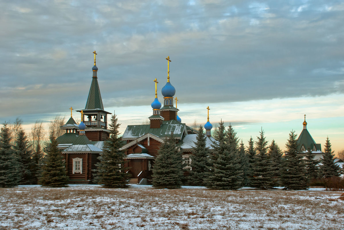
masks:
[[[286,143],[287,150],[281,171],[281,183],[284,189],[308,189],[305,164],[296,137],[295,131],[291,131]]]

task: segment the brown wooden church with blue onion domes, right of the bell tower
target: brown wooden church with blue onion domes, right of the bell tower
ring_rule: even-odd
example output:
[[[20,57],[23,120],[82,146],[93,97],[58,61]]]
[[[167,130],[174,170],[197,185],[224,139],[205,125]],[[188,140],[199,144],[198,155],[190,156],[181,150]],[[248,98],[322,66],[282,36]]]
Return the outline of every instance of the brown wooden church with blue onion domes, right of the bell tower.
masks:
[[[160,145],[164,138],[169,136],[172,132],[178,140],[178,145],[181,149],[181,155],[184,161],[184,175],[192,170],[190,162],[192,161],[192,151],[194,142],[196,142],[197,131],[181,122],[178,116],[177,105],[173,106],[173,100],[177,103],[178,99],[173,98],[175,95],[175,88],[170,82],[170,57],[167,57],[168,71],[167,83],[161,89],[161,94],[164,99],[163,106],[158,100],[157,96],[157,79],[155,82],[155,99],[151,103],[153,114],[148,119],[149,124],[128,125],[123,133],[122,140],[126,144],[121,148],[126,153],[126,166],[129,167],[129,172],[132,176],[131,181],[136,183],[150,183],[152,178],[152,167],[154,159],[158,156]],[[162,106],[162,107],[161,107]],[[206,143],[207,147],[212,149],[212,144],[215,139],[211,136],[212,124],[209,122],[209,107],[208,121],[204,125],[206,129]]]

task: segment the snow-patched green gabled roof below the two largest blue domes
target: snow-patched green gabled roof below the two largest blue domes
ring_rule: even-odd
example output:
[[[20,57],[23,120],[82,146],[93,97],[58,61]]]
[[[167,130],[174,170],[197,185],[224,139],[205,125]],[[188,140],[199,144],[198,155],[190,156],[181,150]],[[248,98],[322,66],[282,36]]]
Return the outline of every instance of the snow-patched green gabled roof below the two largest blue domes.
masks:
[[[128,125],[124,131],[122,140],[134,140],[147,133],[165,138],[173,132],[176,139],[181,139],[186,134],[186,125],[176,120],[163,121],[160,128],[150,128],[149,124]]]

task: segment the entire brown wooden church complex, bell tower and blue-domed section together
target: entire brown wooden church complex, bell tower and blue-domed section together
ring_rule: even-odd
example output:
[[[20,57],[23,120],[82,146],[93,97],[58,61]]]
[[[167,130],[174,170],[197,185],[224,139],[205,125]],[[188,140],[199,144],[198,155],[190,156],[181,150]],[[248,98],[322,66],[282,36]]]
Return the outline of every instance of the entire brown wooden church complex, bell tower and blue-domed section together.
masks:
[[[93,170],[96,168],[98,156],[103,152],[104,141],[109,137],[110,130],[107,126],[107,116],[110,112],[104,110],[103,101],[98,85],[98,67],[96,66],[96,51],[94,53],[94,66],[92,67],[92,81],[88,93],[86,106],[82,110],[76,110],[81,114],[81,122],[77,124],[73,119],[73,108],[71,107],[71,118],[61,126],[66,132],[59,136],[56,141],[66,164],[70,184],[92,184]],[[170,62],[168,56],[167,82],[161,90],[163,106],[159,102],[157,94],[158,80],[155,83],[155,98],[151,103],[153,114],[148,117],[149,124],[128,125],[122,136],[125,151],[125,166],[129,167],[131,175],[130,182],[138,184],[150,184],[152,178],[152,167],[154,159],[164,138],[172,132],[178,141],[180,154],[184,162],[184,175],[192,170],[192,151],[198,131],[182,123],[178,116],[177,98],[174,98],[175,88],[170,82]],[[175,107],[173,101],[175,100]],[[212,149],[215,139],[211,136],[213,125],[209,122],[209,107],[206,108],[208,117],[204,125],[206,130],[206,144]]]

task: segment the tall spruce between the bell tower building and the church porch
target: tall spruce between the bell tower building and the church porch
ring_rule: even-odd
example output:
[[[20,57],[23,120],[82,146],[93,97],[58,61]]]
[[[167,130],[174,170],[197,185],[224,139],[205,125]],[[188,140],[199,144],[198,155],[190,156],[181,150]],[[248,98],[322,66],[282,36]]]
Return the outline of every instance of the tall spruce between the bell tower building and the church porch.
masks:
[[[104,142],[103,153],[98,156],[99,162],[94,174],[94,182],[108,188],[128,187],[128,168],[124,167],[125,153],[119,150],[123,145],[118,137],[119,126],[116,115],[112,115],[109,123],[110,137]]]

